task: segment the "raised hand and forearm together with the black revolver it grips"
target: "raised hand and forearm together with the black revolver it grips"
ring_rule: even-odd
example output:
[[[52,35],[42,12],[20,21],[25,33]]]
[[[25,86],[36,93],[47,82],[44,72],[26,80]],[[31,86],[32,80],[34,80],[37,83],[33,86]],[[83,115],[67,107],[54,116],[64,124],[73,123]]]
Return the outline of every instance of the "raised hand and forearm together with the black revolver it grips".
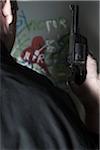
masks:
[[[71,5],[71,10],[72,27],[70,32],[70,51],[67,60],[71,70],[69,84],[85,108],[85,124],[87,129],[90,132],[96,133],[98,137],[100,73],[97,73],[96,60],[91,55],[88,55],[87,39],[79,34],[79,8],[77,5]],[[74,81],[74,84],[72,81]]]

